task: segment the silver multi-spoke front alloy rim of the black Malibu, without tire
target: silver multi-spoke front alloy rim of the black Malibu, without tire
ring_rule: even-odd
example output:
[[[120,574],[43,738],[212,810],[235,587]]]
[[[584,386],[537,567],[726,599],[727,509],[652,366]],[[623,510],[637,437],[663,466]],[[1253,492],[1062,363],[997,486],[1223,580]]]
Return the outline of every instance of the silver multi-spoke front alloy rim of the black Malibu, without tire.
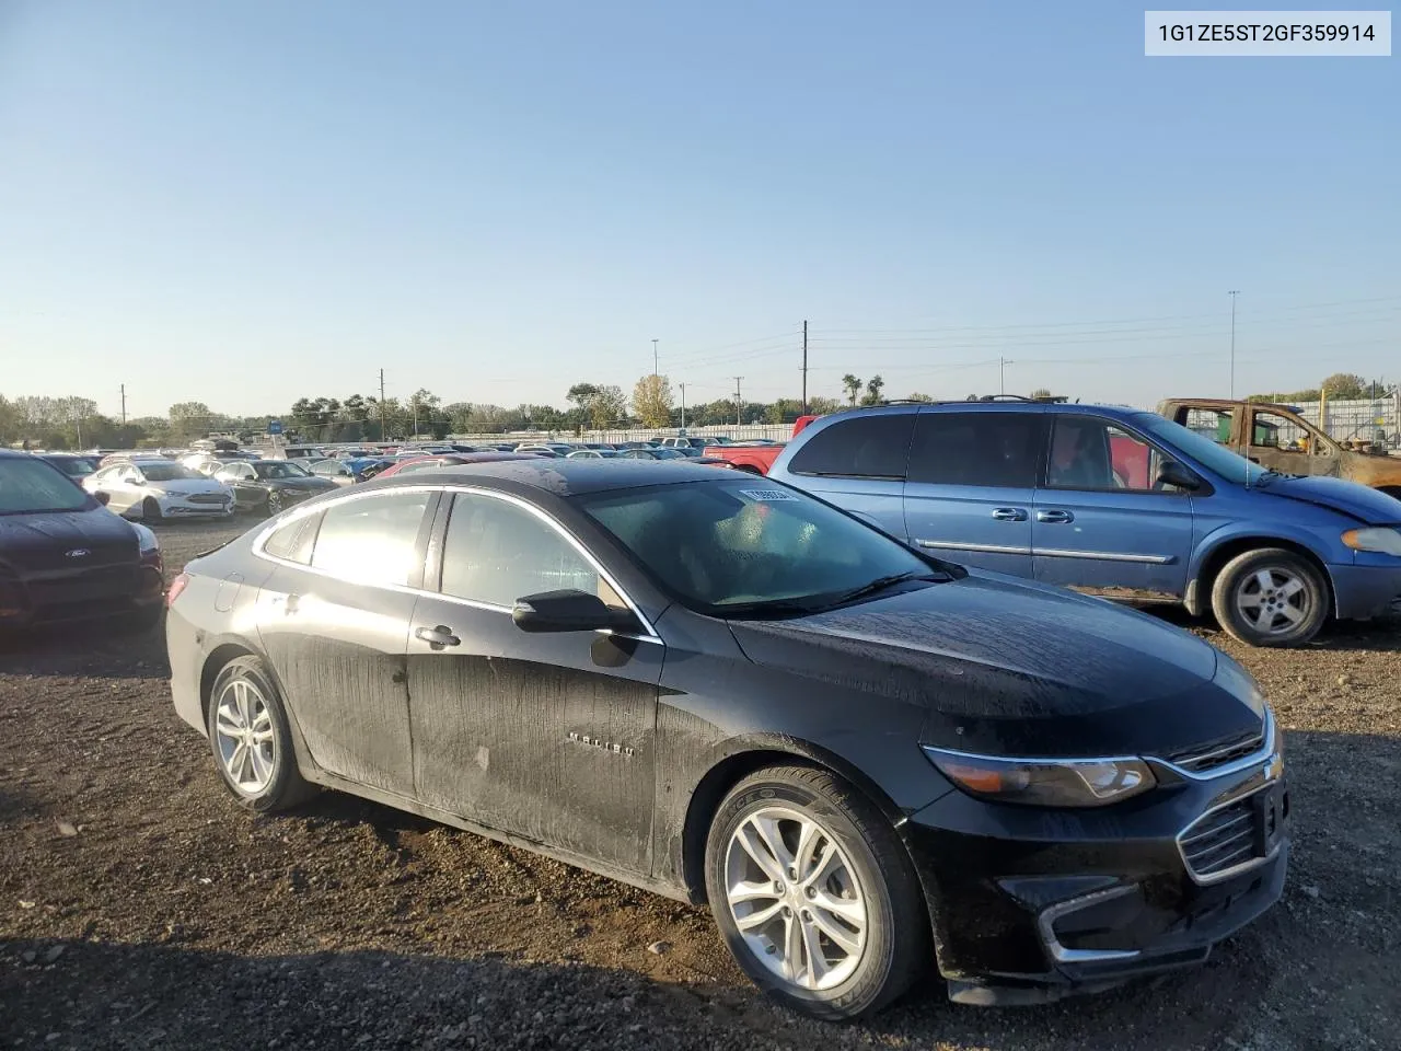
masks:
[[[764,807],[726,848],[726,897],[757,960],[801,989],[831,989],[866,952],[867,908],[855,867],[807,814]]]

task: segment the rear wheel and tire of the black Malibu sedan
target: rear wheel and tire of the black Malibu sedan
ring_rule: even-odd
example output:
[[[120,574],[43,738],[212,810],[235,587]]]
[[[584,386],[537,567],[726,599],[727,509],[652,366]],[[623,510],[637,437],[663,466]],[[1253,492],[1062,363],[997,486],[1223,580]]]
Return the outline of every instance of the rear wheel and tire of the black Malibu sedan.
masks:
[[[315,795],[297,769],[282,696],[258,657],[235,657],[220,668],[206,719],[214,765],[244,807],[287,810]],[[242,730],[258,734],[252,747],[235,740]]]

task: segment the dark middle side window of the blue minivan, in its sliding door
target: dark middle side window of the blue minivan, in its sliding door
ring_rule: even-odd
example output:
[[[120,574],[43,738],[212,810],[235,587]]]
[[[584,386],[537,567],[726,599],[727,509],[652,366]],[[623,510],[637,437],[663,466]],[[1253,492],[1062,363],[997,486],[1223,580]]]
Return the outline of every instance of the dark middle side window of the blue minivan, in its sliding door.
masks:
[[[922,412],[909,481],[1031,489],[1044,433],[1035,412]]]

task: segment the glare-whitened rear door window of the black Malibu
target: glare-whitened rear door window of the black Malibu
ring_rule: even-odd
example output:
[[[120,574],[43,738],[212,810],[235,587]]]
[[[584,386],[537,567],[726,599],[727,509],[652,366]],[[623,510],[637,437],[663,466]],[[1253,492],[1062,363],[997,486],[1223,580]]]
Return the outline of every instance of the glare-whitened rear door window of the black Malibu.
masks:
[[[384,493],[326,507],[314,569],[367,584],[406,586],[419,566],[417,537],[429,493]]]

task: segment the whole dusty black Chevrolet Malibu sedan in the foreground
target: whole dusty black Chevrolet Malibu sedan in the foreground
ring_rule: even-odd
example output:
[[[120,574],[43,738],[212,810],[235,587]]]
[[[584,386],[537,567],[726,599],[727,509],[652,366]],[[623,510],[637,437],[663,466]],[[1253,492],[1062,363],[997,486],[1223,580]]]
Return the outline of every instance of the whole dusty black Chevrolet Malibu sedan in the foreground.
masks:
[[[171,587],[233,795],[352,792],[688,901],[828,1019],[1201,963],[1279,897],[1269,708],[1202,640],[682,464],[314,500]]]

